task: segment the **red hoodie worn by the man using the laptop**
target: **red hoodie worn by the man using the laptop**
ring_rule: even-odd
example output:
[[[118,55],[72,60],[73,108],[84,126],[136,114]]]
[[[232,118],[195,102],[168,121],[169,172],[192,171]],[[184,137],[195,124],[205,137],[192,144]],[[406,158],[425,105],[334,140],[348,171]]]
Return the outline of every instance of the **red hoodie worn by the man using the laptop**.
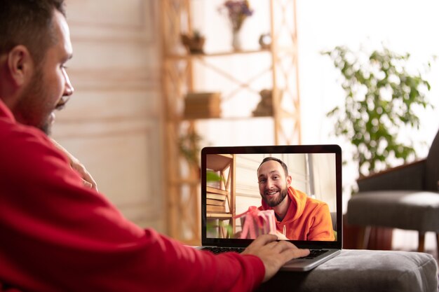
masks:
[[[0,99],[0,291],[251,291],[263,277],[256,256],[214,256],[127,221]]]

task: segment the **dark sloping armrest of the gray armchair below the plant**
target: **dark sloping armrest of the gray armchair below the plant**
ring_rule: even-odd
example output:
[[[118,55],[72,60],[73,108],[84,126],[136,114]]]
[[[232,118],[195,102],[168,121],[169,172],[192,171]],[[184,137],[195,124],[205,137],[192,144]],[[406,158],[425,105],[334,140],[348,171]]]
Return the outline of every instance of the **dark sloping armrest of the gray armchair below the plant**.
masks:
[[[357,180],[360,192],[370,190],[423,190],[426,160],[386,169]]]

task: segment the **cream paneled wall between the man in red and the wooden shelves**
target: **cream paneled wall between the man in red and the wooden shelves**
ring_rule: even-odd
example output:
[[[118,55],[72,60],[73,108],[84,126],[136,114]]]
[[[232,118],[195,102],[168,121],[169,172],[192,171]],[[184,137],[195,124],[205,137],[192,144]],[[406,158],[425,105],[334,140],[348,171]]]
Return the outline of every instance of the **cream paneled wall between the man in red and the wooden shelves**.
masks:
[[[124,216],[164,232],[157,8],[154,0],[67,0],[75,93],[53,138]]]

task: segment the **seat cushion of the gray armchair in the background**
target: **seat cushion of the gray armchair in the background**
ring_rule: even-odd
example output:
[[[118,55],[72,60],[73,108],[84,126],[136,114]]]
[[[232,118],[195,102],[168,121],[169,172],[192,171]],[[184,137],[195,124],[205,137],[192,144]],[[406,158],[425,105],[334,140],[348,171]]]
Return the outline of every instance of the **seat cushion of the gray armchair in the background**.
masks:
[[[413,190],[358,193],[348,202],[347,223],[439,232],[439,193]]]

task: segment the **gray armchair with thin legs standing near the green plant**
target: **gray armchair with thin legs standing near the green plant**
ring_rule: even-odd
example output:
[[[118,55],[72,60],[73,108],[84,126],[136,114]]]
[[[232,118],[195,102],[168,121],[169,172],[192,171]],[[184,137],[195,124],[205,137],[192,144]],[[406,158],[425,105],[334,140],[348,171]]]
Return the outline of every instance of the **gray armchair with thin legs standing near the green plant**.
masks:
[[[359,192],[348,202],[347,223],[417,230],[418,251],[424,251],[425,232],[435,232],[439,251],[439,132],[428,156],[407,165],[358,179]]]

